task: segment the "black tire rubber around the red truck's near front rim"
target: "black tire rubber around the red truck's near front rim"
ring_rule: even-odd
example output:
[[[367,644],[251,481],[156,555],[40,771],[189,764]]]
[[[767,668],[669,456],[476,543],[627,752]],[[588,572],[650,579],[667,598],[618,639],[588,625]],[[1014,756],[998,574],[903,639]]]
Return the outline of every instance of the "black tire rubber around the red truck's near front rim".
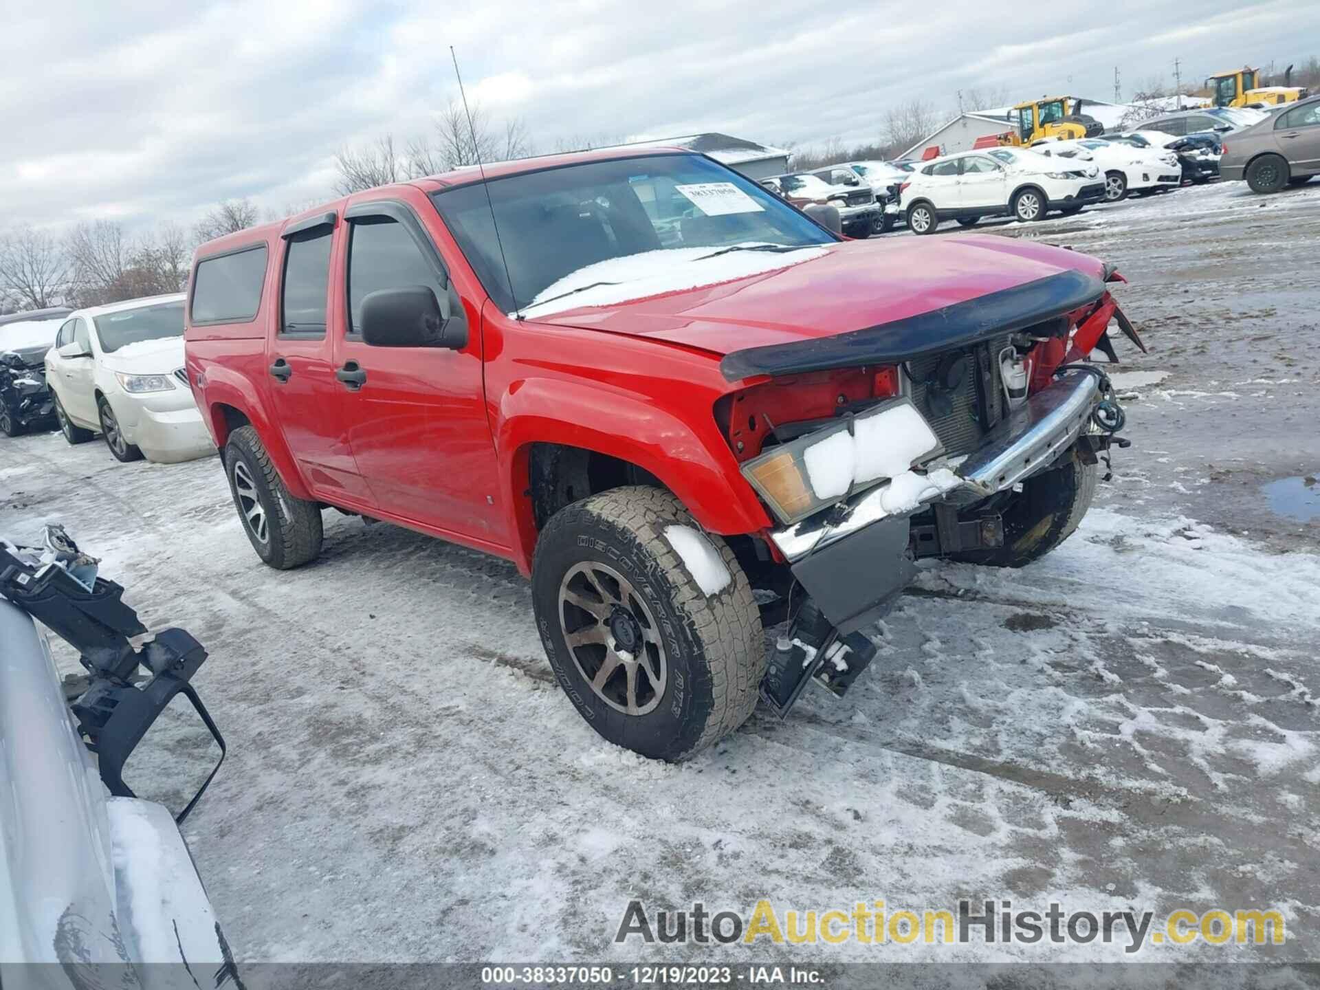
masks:
[[[532,605],[554,676],[586,722],[602,738],[643,756],[682,760],[751,715],[766,673],[766,644],[751,585],[729,545],[705,536],[731,578],[706,595],[667,539],[671,525],[701,532],[682,503],[663,488],[612,488],[568,506],[550,517],[537,541]],[[561,586],[583,562],[606,565],[626,578],[655,619],[667,676],[659,704],[644,714],[607,704],[570,652]]]

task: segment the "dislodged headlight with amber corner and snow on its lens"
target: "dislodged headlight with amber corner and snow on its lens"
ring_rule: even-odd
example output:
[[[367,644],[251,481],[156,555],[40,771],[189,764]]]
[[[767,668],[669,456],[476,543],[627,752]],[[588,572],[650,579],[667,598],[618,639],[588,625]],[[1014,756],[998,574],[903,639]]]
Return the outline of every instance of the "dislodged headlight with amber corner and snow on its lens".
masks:
[[[912,401],[895,399],[776,445],[747,461],[742,473],[787,525],[942,450]]]

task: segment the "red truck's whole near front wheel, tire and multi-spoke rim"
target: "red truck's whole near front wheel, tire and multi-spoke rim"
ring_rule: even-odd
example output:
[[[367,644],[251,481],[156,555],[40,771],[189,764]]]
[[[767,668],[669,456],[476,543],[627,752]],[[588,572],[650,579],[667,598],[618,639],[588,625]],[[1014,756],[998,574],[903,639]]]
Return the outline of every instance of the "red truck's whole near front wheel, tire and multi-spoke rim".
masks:
[[[682,760],[756,706],[766,645],[751,585],[668,491],[614,488],[556,513],[532,605],[560,686],[616,746]]]

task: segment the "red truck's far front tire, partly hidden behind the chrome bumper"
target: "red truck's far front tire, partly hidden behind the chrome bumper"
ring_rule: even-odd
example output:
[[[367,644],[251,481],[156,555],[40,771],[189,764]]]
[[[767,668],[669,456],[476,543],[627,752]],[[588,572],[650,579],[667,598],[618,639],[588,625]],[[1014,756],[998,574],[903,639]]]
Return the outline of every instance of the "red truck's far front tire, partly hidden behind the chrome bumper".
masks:
[[[1072,536],[1086,515],[1096,494],[1096,465],[1067,455],[1059,466],[1028,478],[1001,510],[1003,546],[962,550],[949,554],[949,560],[994,568],[1020,568],[1040,560]]]

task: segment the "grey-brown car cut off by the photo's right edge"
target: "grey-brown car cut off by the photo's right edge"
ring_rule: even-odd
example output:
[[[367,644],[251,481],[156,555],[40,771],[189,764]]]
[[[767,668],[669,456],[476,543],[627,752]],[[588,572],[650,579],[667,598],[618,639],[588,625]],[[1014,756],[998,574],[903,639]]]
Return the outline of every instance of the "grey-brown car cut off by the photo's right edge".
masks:
[[[1220,178],[1241,180],[1257,193],[1276,193],[1320,174],[1320,95],[1224,137]]]

